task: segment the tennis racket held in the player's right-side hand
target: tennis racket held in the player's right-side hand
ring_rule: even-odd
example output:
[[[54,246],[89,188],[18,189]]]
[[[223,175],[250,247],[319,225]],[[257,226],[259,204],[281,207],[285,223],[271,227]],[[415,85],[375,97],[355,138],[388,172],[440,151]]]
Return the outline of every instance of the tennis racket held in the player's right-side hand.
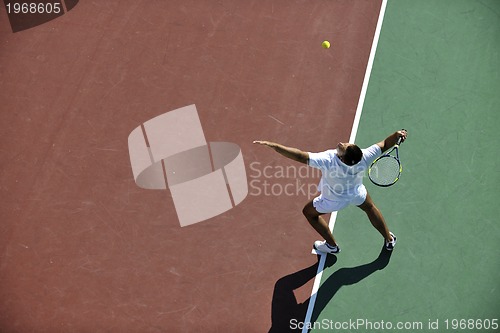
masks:
[[[368,177],[373,184],[387,187],[396,184],[399,180],[399,176],[403,171],[403,166],[399,161],[399,145],[402,139],[402,137],[399,137],[398,142],[389,152],[378,157],[370,165]],[[395,155],[391,155],[392,152],[395,152]]]

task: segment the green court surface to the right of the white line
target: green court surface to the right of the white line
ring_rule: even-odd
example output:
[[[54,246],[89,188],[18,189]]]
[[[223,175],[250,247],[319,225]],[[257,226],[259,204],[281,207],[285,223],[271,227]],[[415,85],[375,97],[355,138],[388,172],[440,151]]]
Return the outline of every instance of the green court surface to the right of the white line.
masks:
[[[398,244],[338,214],[312,332],[500,331],[499,125],[500,1],[389,0],[356,143],[409,131],[400,181],[365,181]]]

